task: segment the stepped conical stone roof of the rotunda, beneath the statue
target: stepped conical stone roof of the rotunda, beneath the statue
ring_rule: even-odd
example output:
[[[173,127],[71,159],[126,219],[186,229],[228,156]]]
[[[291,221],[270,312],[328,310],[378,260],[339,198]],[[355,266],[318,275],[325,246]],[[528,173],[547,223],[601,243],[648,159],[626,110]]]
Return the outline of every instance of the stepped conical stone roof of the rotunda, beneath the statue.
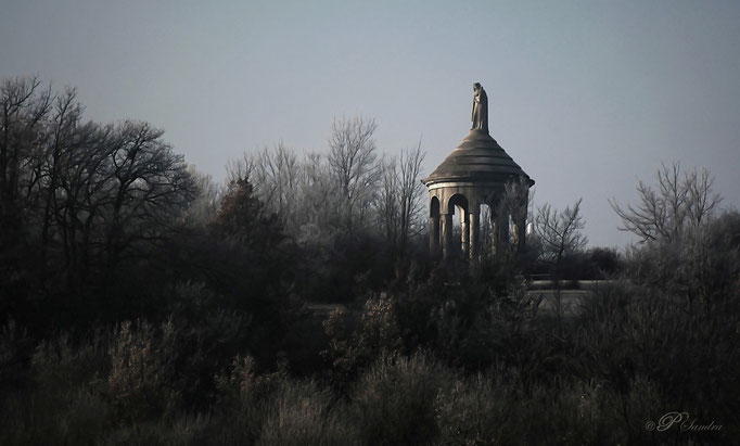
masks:
[[[522,176],[531,187],[535,183],[487,131],[474,129],[423,182],[508,182]]]

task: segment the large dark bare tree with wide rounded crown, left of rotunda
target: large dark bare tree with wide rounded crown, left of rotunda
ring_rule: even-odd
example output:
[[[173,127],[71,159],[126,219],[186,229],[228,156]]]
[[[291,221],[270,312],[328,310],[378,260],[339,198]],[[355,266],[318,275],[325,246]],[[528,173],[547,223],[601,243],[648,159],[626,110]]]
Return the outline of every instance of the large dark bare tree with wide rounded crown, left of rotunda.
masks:
[[[146,123],[90,123],[78,126],[52,157],[52,234],[68,281],[84,280],[92,264],[115,266],[181,221],[196,183],[162,135]]]

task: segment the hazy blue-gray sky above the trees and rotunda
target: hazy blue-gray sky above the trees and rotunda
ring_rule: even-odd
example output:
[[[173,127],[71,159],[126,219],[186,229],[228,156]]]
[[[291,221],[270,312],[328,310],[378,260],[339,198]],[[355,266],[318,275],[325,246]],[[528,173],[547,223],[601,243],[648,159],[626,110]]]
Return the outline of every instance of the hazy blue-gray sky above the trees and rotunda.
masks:
[[[136,118],[220,179],[244,151],[326,150],[334,117],[374,118],[429,174],[492,136],[537,181],[583,196],[591,245],[629,237],[607,202],[661,162],[706,167],[740,207],[740,1],[2,0],[0,77],[78,88],[87,117]]]

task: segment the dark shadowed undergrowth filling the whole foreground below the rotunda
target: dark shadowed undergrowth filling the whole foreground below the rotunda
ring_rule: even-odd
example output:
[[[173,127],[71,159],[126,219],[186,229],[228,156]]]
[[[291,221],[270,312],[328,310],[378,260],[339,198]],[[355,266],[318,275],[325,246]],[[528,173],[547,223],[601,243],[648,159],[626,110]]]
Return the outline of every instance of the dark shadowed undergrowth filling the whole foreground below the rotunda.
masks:
[[[158,323],[34,341],[8,320],[0,444],[731,443],[740,263],[693,250],[630,253],[629,278],[567,317],[538,308],[508,265],[452,271],[459,282],[410,268],[323,323],[289,308],[302,335],[264,359],[248,347],[261,326],[197,284]],[[722,428],[646,429],[672,411]]]

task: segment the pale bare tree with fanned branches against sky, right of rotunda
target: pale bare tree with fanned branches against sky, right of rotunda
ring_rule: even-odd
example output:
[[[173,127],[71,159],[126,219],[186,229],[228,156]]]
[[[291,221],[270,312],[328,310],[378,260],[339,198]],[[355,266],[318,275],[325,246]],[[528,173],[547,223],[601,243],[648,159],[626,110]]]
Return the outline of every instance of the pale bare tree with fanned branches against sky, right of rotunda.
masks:
[[[681,239],[687,230],[706,224],[722,201],[712,188],[714,178],[705,169],[694,168],[681,175],[680,164],[661,165],[655,171],[658,190],[639,180],[637,206],[626,208],[616,200],[609,201],[622,218],[622,231],[637,234],[645,242],[672,243]]]

